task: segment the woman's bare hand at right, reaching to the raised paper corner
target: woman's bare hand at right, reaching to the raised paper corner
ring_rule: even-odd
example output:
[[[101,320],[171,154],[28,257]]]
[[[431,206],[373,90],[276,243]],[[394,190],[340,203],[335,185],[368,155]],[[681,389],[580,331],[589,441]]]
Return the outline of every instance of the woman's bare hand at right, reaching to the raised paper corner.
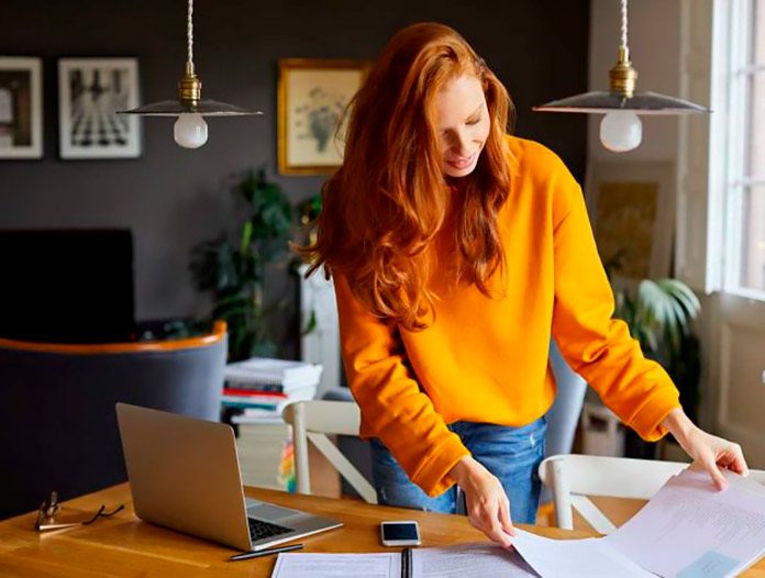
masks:
[[[749,475],[749,467],[741,446],[717,435],[711,435],[694,425],[680,408],[669,412],[662,424],[675,436],[683,449],[703,466],[718,489],[728,487],[720,468],[730,469],[742,476]]]

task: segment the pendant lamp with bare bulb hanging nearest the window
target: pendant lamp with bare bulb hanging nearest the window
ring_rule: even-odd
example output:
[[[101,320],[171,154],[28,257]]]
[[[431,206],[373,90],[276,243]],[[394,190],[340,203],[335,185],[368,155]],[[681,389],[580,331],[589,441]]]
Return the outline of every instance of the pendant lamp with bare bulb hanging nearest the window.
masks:
[[[630,62],[627,42],[627,0],[621,0],[621,43],[617,65],[608,73],[610,90],[596,90],[553,100],[533,110],[539,112],[584,112],[605,114],[600,122],[600,142],[609,151],[624,153],[636,148],[643,137],[639,115],[708,113],[706,107],[656,92],[635,92],[637,71]]]

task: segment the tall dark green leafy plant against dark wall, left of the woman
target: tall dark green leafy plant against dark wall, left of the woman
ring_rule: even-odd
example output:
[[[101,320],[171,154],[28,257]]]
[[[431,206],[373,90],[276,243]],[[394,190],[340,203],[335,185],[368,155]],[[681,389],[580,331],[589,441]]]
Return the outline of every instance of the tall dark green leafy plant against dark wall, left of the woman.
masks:
[[[264,286],[268,267],[285,260],[292,231],[292,208],[265,169],[246,174],[234,190],[246,204],[236,242],[199,243],[190,266],[197,287],[212,292],[211,318],[229,325],[229,362],[278,352],[265,320],[282,303],[265,303]]]

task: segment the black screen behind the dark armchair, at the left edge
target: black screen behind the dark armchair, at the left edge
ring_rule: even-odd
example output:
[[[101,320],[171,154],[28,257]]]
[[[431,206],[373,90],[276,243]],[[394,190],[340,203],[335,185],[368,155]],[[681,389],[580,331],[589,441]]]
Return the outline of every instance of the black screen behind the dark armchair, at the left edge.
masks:
[[[134,338],[130,230],[0,231],[0,337],[47,343]]]

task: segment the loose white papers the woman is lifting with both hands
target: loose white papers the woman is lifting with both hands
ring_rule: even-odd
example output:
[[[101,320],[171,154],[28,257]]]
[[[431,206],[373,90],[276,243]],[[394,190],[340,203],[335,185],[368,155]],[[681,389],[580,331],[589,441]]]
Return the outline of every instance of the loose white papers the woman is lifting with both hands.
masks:
[[[670,478],[629,522],[602,538],[555,541],[519,532],[515,549],[543,577],[725,578],[765,554],[765,487],[723,473]]]

